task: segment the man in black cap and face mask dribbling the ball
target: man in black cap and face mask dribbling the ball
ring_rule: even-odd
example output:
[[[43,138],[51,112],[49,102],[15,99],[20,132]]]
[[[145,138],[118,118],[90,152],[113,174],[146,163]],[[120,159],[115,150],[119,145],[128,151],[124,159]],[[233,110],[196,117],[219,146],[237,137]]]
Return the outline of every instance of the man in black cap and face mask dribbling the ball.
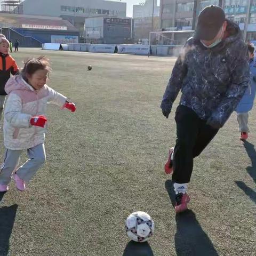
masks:
[[[173,172],[176,213],[185,211],[190,201],[187,187],[194,158],[227,122],[248,88],[247,52],[239,26],[226,19],[221,7],[211,5],[199,14],[194,37],[175,62],[161,108],[168,118],[181,90],[176,145],[165,164],[165,172]]]

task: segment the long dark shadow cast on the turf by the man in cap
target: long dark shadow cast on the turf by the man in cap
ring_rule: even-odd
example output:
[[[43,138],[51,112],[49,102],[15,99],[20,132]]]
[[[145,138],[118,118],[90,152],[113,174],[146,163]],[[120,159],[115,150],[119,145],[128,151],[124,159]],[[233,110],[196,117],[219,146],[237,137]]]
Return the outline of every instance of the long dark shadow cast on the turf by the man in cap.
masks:
[[[167,180],[165,188],[175,205],[173,182]],[[211,239],[204,232],[193,211],[176,214],[177,233],[175,234],[175,249],[177,256],[218,256]]]

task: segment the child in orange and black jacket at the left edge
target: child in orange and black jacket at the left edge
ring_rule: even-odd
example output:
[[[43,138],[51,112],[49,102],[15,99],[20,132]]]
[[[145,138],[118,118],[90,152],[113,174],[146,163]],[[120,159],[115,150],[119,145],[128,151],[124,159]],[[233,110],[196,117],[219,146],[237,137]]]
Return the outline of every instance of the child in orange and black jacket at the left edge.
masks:
[[[6,92],[4,86],[12,75],[19,73],[15,60],[9,55],[10,43],[5,37],[0,37],[0,120],[2,118]]]

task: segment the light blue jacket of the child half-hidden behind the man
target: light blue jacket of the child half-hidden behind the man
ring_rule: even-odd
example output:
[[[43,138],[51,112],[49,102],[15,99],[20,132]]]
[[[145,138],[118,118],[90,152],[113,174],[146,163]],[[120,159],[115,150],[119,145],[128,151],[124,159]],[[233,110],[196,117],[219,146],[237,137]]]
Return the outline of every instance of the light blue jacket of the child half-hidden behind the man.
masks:
[[[243,98],[239,102],[236,112],[237,113],[246,113],[250,111],[253,107],[253,101],[256,94],[256,61],[251,59],[249,61],[250,73],[251,73],[251,83],[249,84],[248,89],[246,90]]]

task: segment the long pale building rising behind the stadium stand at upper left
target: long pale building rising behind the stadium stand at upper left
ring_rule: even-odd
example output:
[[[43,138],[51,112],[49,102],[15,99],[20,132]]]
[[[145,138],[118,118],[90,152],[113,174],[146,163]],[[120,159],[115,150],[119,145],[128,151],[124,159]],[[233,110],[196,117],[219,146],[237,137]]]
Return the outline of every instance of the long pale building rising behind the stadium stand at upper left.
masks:
[[[126,18],[126,3],[105,0],[25,0],[23,13],[61,17],[73,24],[84,36],[85,18]]]

